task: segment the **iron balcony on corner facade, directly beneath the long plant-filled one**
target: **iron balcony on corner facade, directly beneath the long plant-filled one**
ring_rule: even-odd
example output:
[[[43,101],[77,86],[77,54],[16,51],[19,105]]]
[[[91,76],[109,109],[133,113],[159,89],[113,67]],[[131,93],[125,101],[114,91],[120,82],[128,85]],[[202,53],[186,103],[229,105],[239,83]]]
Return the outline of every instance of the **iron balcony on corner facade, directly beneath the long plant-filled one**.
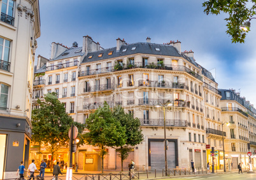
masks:
[[[153,88],[181,88],[185,89],[185,83],[173,83],[165,81],[149,81],[139,80],[139,87],[153,87]]]

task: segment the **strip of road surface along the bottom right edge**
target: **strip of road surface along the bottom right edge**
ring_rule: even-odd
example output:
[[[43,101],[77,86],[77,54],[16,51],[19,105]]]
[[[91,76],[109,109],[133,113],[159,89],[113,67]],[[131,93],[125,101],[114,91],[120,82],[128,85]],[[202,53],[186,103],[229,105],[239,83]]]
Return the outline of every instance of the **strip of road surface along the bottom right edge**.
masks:
[[[168,178],[172,180],[180,180],[180,179],[192,179],[192,180],[203,180],[203,179],[208,179],[208,180],[222,180],[222,179],[256,179],[256,174],[248,174],[248,173],[243,173],[243,174],[238,174],[238,173],[229,173],[229,174],[207,174],[203,176],[190,176],[190,177],[172,177]]]

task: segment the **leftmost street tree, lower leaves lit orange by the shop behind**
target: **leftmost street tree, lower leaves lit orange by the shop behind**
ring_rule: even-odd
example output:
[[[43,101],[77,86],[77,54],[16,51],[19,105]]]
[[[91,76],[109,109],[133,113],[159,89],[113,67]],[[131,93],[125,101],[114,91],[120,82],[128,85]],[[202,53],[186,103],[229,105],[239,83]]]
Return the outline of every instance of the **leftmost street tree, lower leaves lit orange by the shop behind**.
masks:
[[[71,124],[78,128],[78,138],[80,144],[83,144],[84,134],[82,134],[85,125],[74,122],[66,113],[64,104],[56,97],[55,93],[47,93],[43,101],[38,99],[38,109],[32,111],[32,141],[36,144],[44,144],[51,158],[51,171],[53,156],[57,155],[60,147],[68,147],[68,130]]]

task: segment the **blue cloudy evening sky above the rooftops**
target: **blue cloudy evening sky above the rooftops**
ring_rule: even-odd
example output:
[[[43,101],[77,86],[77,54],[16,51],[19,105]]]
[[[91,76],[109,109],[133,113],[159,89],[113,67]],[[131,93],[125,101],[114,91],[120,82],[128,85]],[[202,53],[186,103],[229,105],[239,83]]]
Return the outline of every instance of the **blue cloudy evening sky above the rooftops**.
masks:
[[[51,43],[82,46],[89,35],[103,48],[127,43],[181,41],[181,51],[192,50],[196,62],[210,70],[219,88],[240,89],[256,106],[256,27],[244,44],[232,43],[225,31],[225,14],[206,15],[203,1],[191,0],[39,0],[41,37],[36,55],[50,58]]]

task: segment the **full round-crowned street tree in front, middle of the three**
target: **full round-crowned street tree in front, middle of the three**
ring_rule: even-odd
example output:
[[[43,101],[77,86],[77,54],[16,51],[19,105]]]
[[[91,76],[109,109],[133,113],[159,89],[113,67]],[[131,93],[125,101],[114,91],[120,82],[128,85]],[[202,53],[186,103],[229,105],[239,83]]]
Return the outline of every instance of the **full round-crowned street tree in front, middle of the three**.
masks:
[[[99,107],[87,118],[86,128],[89,132],[85,134],[85,140],[88,144],[100,149],[101,170],[103,172],[104,156],[108,154],[106,147],[113,148],[124,144],[127,139],[125,128],[121,126],[119,121],[115,120],[106,101],[103,107]]]

